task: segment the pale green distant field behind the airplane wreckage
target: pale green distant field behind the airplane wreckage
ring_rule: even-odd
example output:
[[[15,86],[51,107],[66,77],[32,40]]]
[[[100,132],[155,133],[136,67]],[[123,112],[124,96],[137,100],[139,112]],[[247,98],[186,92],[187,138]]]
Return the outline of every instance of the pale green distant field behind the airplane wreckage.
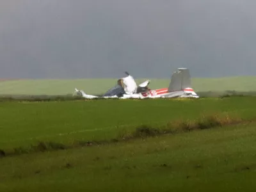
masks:
[[[170,79],[150,79],[150,88],[168,87]],[[142,83],[145,79],[137,79]],[[67,95],[74,88],[86,93],[101,94],[116,84],[116,79],[52,79],[52,80],[19,80],[0,81],[0,94],[10,95]],[[237,92],[256,91],[256,77],[223,77],[223,78],[192,78],[196,92]]]

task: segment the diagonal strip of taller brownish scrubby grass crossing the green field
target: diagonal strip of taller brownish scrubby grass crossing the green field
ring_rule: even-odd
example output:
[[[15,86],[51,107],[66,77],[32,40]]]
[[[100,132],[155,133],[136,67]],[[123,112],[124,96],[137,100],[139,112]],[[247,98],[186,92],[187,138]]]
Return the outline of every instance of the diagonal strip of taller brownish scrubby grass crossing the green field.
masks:
[[[245,124],[250,122],[256,122],[255,119],[244,120],[236,116],[230,116],[228,114],[214,114],[210,116],[201,116],[195,120],[180,120],[168,122],[166,125],[151,127],[150,125],[140,125],[136,129],[126,130],[121,132],[116,138],[108,140],[93,140],[93,141],[77,141],[72,145],[63,145],[63,143],[56,142],[43,142],[40,141],[36,145],[30,145],[29,147],[14,148],[13,151],[0,150],[0,157],[15,156],[19,154],[29,154],[35,152],[47,152],[51,150],[65,150],[67,148],[76,147],[90,147],[97,145],[106,145],[111,143],[119,143],[127,140],[134,140],[137,138],[156,137],[164,134],[177,134],[179,132],[196,131],[202,129],[211,129],[214,127],[223,127],[225,125]]]

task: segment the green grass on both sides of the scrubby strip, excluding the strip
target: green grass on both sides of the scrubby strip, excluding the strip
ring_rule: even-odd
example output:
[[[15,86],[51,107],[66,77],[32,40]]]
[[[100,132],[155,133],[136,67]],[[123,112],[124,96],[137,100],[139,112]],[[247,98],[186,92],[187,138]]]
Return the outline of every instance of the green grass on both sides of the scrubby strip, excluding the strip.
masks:
[[[243,122],[0,158],[0,191],[255,191],[256,97],[0,102],[0,149],[72,146],[140,125],[228,113]],[[252,120],[248,122],[246,120]]]

